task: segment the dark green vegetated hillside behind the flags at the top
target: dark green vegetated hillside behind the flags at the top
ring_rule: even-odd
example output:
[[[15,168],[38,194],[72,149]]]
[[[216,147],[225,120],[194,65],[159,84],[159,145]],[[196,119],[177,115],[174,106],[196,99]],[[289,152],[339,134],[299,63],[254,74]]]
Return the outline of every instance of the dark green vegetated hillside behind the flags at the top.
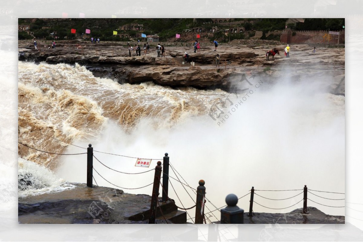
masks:
[[[54,36],[60,39],[80,39],[85,29],[91,30],[91,35],[102,41],[129,41],[138,38],[140,33],[158,35],[163,42],[178,41],[176,33],[185,33],[189,29],[203,28],[200,32],[205,41],[216,39],[228,42],[233,39],[247,39],[254,36],[255,31],[262,31],[261,39],[280,40],[280,36],[265,33],[274,30],[284,30],[287,18],[234,18],[227,22],[213,22],[212,18],[19,18],[19,25],[28,24],[28,31],[19,30],[19,39],[47,39]],[[121,27],[127,25],[124,30]],[[305,22],[288,24],[292,30],[340,30],[344,18],[306,18]],[[240,28],[238,33],[226,33],[226,29]],[[212,28],[217,29],[211,33]],[[76,34],[70,30],[76,29]],[[113,35],[117,31],[118,35]],[[195,38],[195,35],[192,35]],[[181,40],[179,40],[181,41]],[[183,40],[185,41],[185,39]]]

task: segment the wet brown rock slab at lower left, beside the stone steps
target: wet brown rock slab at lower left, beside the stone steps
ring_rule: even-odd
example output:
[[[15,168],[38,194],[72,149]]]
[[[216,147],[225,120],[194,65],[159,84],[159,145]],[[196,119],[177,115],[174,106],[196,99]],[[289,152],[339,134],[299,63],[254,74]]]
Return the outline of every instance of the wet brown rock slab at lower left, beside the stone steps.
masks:
[[[147,224],[150,203],[149,195],[77,184],[68,191],[19,198],[18,218],[23,224]],[[173,201],[159,204],[165,214],[177,210]],[[156,223],[173,223],[159,216],[160,209]]]

